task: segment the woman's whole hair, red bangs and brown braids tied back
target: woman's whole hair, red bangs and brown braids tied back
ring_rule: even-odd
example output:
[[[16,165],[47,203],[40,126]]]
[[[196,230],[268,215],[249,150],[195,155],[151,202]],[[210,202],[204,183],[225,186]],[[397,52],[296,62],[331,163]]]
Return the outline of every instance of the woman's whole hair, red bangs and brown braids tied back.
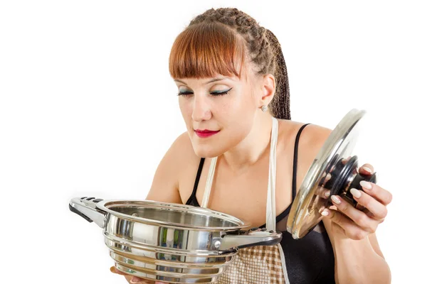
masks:
[[[278,38],[236,8],[209,9],[193,18],[172,46],[169,73],[174,78],[221,74],[240,79],[247,60],[257,75],[273,74],[270,112],[277,119],[290,119],[288,72]]]

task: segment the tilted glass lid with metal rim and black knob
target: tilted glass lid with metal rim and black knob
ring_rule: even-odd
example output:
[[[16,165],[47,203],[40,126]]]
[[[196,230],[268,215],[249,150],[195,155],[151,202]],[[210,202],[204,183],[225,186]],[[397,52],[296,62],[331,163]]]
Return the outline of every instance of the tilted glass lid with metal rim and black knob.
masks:
[[[287,230],[294,239],[308,234],[322,220],[321,212],[332,205],[332,195],[357,206],[350,189],[362,190],[361,180],[376,183],[376,173],[359,175],[357,155],[351,154],[365,114],[364,110],[349,111],[317,153],[290,209]],[[324,195],[326,190],[330,190],[328,198]]]

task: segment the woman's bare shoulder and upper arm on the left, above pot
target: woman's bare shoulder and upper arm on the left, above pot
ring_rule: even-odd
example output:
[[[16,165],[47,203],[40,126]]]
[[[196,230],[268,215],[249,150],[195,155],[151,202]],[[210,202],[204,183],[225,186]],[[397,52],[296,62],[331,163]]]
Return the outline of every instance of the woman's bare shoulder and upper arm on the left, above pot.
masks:
[[[157,166],[147,200],[182,203],[179,178],[198,160],[188,134],[179,135]]]

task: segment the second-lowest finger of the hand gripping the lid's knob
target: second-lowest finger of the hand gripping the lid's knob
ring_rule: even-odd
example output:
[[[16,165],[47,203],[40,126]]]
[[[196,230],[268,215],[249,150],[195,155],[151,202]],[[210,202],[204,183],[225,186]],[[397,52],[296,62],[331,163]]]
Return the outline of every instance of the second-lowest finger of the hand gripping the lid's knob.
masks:
[[[378,222],[375,219],[371,219],[364,212],[354,208],[349,202],[343,200],[337,195],[331,197],[333,204],[337,207],[339,212],[349,217],[357,226],[359,226],[364,231],[369,233],[374,233]]]

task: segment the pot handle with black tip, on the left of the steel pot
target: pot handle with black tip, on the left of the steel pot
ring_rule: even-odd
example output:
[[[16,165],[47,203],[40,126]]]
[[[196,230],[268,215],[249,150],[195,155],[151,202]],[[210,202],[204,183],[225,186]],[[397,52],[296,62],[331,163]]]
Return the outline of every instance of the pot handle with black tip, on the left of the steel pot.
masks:
[[[102,229],[105,227],[107,212],[96,207],[97,202],[102,201],[95,197],[75,197],[70,200],[68,207],[71,212],[80,215],[88,222],[95,222]]]

